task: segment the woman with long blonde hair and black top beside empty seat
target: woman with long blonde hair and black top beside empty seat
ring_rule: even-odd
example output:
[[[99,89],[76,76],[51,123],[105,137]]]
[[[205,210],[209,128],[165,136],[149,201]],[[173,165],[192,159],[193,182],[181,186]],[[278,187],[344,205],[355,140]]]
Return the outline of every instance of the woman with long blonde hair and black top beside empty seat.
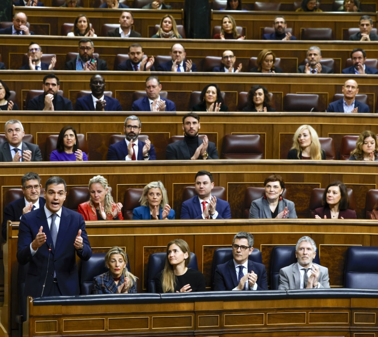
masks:
[[[319,137],[311,125],[301,125],[295,131],[287,159],[325,160],[325,151],[321,149]]]

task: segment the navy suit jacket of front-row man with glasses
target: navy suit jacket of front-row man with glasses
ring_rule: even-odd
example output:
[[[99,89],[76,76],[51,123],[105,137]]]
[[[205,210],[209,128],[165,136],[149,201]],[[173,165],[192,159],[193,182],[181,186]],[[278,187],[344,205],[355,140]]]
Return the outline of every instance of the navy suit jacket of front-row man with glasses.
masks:
[[[257,274],[257,290],[268,290],[265,266],[262,263],[248,260],[248,273],[251,273],[252,270]],[[232,290],[237,287],[238,284],[233,259],[217,266],[214,274],[215,291]]]

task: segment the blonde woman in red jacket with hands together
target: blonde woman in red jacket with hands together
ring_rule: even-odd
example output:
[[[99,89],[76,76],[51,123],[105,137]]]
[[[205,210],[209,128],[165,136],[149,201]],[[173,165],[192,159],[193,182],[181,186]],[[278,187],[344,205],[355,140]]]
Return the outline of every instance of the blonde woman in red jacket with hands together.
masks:
[[[124,220],[122,203],[113,201],[112,188],[106,178],[95,175],[90,179],[88,188],[91,196],[89,201],[81,203],[77,209],[85,221]]]

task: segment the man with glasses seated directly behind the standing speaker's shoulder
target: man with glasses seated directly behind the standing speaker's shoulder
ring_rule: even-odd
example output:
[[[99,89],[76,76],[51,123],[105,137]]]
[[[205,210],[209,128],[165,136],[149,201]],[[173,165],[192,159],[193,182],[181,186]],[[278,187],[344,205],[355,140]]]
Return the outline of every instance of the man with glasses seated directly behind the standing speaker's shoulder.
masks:
[[[24,197],[14,200],[4,207],[2,212],[1,234],[6,241],[6,227],[8,220],[19,222],[23,214],[34,211],[45,204],[41,194],[41,178],[37,173],[28,172],[21,178]]]

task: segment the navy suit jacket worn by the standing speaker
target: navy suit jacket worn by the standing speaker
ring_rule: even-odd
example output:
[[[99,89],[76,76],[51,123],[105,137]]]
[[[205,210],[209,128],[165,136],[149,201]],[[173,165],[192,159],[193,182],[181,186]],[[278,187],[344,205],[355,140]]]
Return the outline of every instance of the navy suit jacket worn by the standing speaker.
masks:
[[[34,256],[32,256],[30,244],[38,233],[40,226],[43,226],[43,232],[47,236],[46,243],[39,247]],[[73,245],[79,229],[81,229],[84,245],[81,252],[76,251]],[[51,256],[49,265],[47,266],[50,244]],[[25,265],[29,262],[24,295],[40,297],[46,275],[47,280],[44,294],[49,294],[54,286],[54,271],[63,296],[79,295],[80,286],[76,266],[76,254],[84,261],[89,260],[92,256],[92,249],[85,230],[85,222],[81,214],[62,207],[62,218],[59,225],[56,247],[53,244],[44,207],[24,214],[21,218],[17,242],[18,263]]]

